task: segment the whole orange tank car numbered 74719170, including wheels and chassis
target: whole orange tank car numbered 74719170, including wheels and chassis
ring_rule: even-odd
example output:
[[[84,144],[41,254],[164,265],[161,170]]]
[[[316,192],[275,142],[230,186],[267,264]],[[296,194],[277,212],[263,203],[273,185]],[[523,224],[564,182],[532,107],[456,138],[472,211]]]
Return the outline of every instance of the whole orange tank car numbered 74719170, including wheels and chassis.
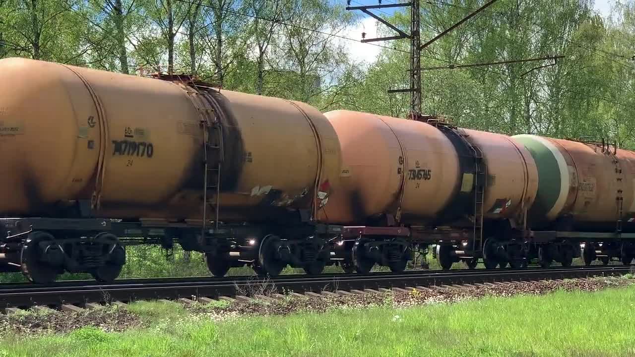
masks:
[[[23,58],[0,72],[0,213],[18,217],[0,222],[0,270],[112,280],[120,237],[178,241],[216,275],[324,267],[332,232],[316,215],[340,145],[318,110],[189,77]]]

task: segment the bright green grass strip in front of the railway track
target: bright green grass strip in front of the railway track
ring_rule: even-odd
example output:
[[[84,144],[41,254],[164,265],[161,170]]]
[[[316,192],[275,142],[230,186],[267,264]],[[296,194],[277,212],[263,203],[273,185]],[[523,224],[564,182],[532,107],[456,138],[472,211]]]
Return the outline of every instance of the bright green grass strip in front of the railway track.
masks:
[[[139,302],[149,328],[5,337],[0,356],[632,356],[634,304],[631,286],[215,322]]]

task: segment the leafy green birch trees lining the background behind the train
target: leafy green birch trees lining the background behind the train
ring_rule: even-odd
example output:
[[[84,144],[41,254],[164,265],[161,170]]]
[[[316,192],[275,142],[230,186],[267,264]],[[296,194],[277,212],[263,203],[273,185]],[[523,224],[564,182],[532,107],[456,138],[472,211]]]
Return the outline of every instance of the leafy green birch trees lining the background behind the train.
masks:
[[[481,4],[422,3],[422,40]],[[495,3],[425,48],[424,112],[469,128],[604,137],[633,147],[635,2],[615,4],[612,14],[599,17],[589,0]],[[410,27],[407,10],[380,15]],[[387,90],[410,85],[408,39],[384,43],[390,48],[371,64],[356,63],[337,37],[358,24],[356,16],[319,0],[0,0],[0,57],[130,73],[173,64],[175,72],[231,90],[302,100],[323,111],[404,117],[410,95]],[[378,26],[378,35],[390,34]],[[545,55],[565,58],[551,66],[545,60],[426,70]]]

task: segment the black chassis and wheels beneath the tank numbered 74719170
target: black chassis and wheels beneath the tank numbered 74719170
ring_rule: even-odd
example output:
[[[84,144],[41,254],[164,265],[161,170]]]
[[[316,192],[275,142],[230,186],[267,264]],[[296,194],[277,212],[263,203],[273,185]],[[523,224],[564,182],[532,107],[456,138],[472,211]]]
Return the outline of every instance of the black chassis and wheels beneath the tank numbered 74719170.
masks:
[[[51,283],[58,274],[90,273],[97,281],[117,278],[126,245],[160,244],[204,253],[214,276],[249,265],[276,276],[287,265],[318,274],[329,263],[329,243],[342,227],[326,224],[267,226],[219,224],[201,233],[200,222],[112,219],[0,219],[0,271],[22,271],[30,281]]]

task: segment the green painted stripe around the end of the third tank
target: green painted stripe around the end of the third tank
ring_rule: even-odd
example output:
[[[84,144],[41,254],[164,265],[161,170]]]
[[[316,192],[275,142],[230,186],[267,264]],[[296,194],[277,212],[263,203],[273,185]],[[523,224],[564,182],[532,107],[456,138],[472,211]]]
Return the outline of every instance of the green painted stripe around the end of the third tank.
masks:
[[[538,192],[531,206],[530,213],[534,217],[545,217],[553,208],[560,194],[560,168],[558,160],[549,147],[536,137],[514,136],[514,140],[525,145],[531,153],[538,168]],[[547,139],[542,139],[547,140]]]

